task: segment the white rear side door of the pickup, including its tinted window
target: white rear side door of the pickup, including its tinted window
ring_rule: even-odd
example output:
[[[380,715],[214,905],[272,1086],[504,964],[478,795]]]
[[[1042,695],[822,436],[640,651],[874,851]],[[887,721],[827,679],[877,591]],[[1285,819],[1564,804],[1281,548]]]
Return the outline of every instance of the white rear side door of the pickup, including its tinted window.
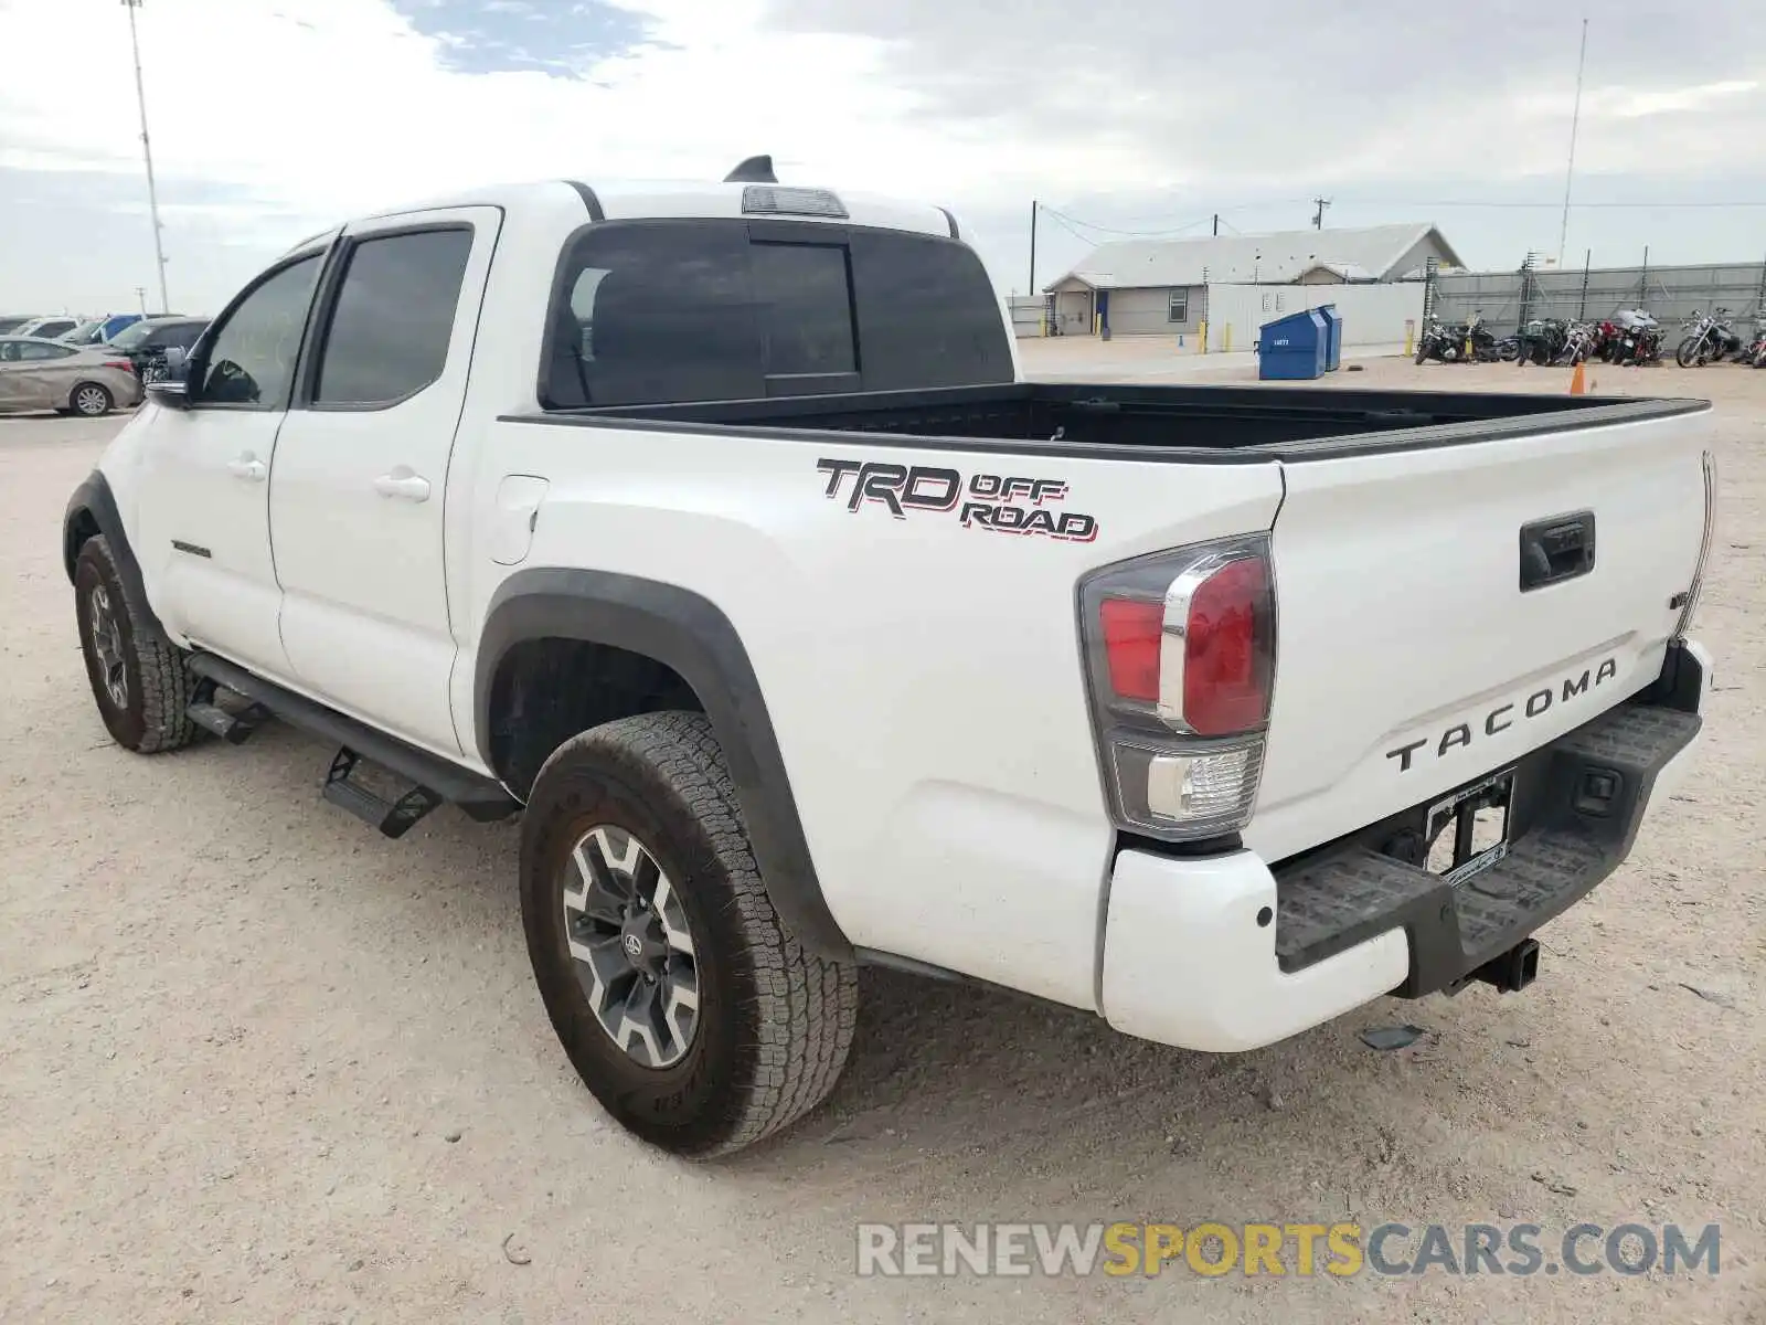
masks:
[[[270,475],[297,677],[456,756],[443,491],[500,221],[463,207],[346,231],[313,399],[290,412]]]

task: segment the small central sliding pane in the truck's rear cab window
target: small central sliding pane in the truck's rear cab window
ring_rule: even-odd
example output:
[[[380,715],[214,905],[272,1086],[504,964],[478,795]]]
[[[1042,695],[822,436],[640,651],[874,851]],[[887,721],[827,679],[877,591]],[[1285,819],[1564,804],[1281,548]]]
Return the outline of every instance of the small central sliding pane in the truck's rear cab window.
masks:
[[[846,247],[754,244],[749,260],[766,375],[857,373]]]

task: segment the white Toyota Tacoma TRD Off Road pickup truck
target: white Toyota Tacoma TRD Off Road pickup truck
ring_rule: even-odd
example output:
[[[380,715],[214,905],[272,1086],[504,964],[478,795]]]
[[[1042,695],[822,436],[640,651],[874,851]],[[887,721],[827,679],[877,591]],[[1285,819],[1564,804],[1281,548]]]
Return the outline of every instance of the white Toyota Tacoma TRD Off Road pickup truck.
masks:
[[[1204,1051],[1519,989],[1711,678],[1708,405],[1024,382],[947,212],[763,159],[355,221],[148,394],[65,518],[106,728],[521,811],[558,1037],[685,1154],[865,963]]]

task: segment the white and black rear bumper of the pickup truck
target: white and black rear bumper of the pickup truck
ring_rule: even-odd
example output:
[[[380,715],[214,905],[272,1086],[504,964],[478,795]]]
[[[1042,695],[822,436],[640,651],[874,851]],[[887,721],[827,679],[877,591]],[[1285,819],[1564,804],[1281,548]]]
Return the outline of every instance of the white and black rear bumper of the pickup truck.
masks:
[[[1121,852],[1104,929],[1106,1019],[1164,1044],[1234,1051],[1379,995],[1457,989],[1618,869],[1685,777],[1709,678],[1709,654],[1676,645],[1649,691],[1542,751],[1531,823],[1506,859],[1459,887],[1365,843],[1277,871],[1250,852]],[[1612,795],[1591,802],[1589,777]]]

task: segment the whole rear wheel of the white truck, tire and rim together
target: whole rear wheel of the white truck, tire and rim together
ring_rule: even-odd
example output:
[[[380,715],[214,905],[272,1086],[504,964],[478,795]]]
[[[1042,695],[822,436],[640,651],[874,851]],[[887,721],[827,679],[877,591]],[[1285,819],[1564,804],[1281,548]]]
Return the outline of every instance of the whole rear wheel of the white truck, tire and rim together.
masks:
[[[705,714],[620,719],[553,753],[521,829],[521,919],[572,1067],[652,1145],[740,1150],[846,1065],[857,970],[781,924]]]

